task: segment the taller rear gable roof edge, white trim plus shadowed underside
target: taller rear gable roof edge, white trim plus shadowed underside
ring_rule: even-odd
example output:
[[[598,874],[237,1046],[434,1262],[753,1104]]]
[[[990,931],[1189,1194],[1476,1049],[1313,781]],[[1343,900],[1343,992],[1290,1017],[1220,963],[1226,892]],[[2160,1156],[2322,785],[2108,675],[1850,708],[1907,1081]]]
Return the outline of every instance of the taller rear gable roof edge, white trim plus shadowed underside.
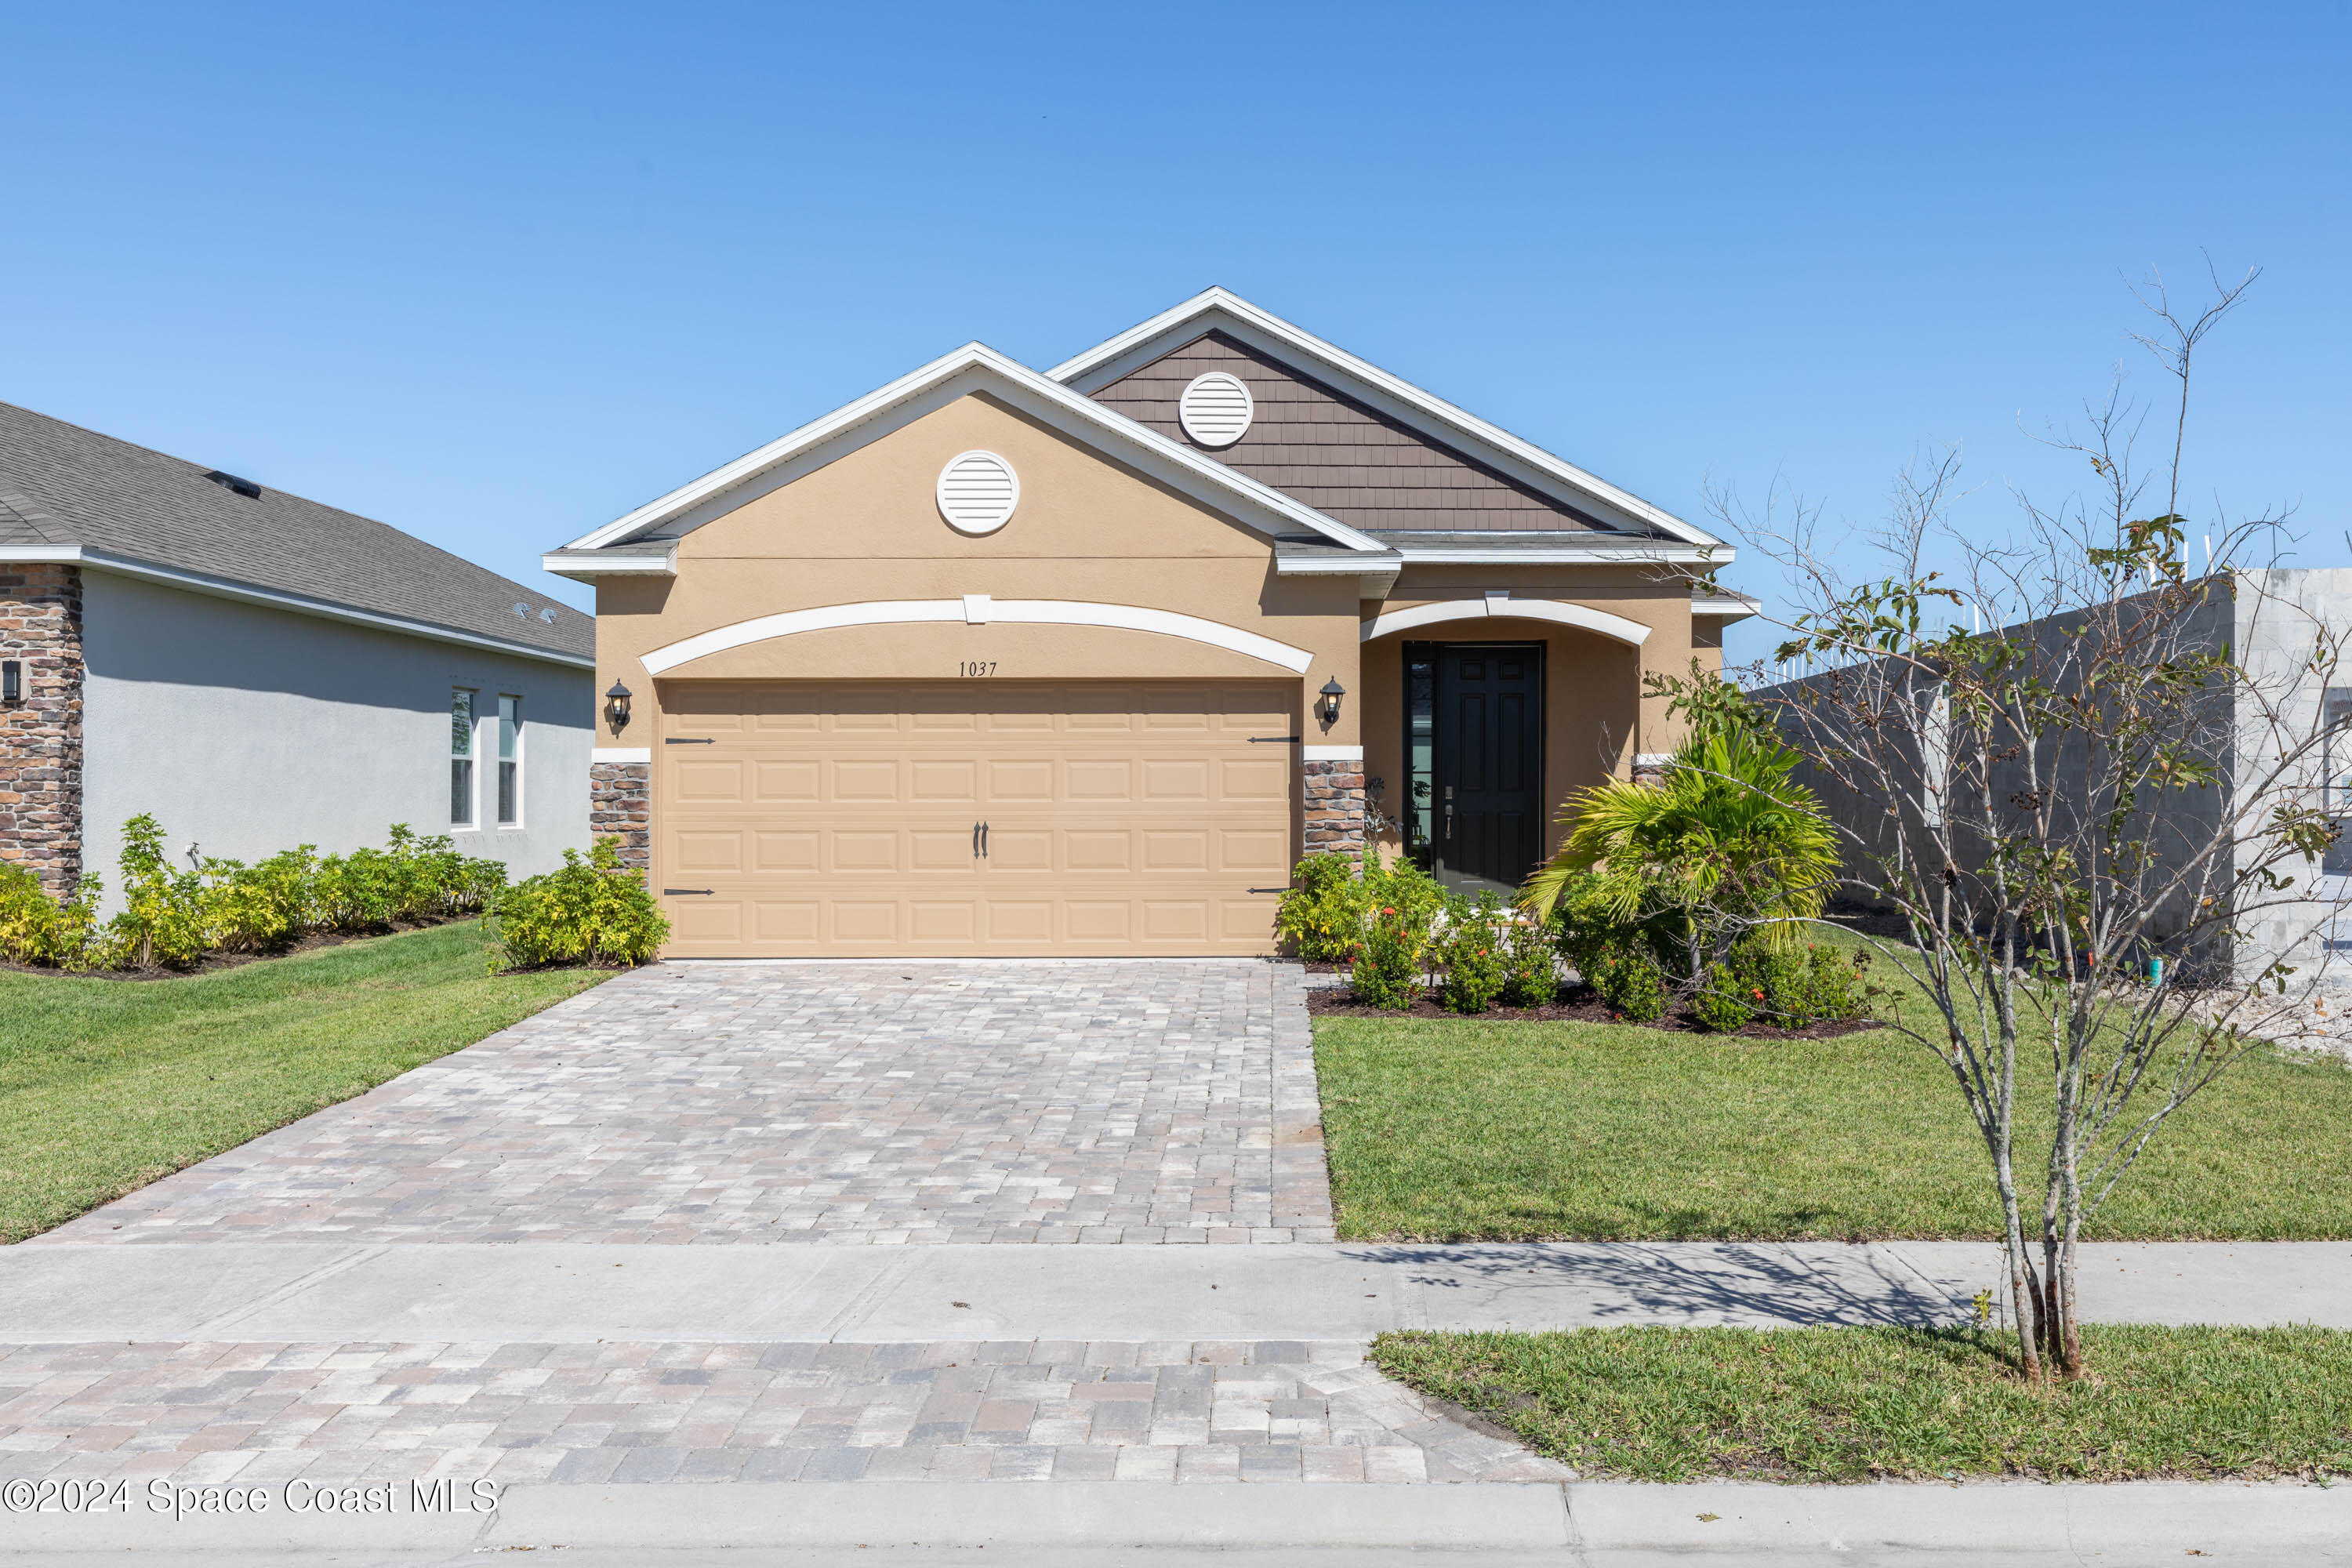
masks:
[[[1174,310],[1129,327],[1127,331],[1096,343],[1082,355],[1063,360],[1047,371],[1054,381],[1080,393],[1096,393],[1131,369],[1190,343],[1209,331],[1225,331],[1249,348],[1298,367],[1301,371],[1329,381],[1367,407],[1421,430],[1432,442],[1458,447],[1472,458],[1494,465],[1498,473],[1550,494],[1569,508],[1606,508],[1630,520],[1635,529],[1656,531],[1665,538],[1710,548],[1710,559],[1731,559],[1731,550],[1719,538],[1672,512],[1642,501],[1639,496],[1609,484],[1606,480],[1552,456],[1534,442],[1519,440],[1501,425],[1454,407],[1444,397],[1428,393],[1402,376],[1392,376],[1348,350],[1324,343],[1310,331],[1251,306],[1228,289],[1204,289]]]

